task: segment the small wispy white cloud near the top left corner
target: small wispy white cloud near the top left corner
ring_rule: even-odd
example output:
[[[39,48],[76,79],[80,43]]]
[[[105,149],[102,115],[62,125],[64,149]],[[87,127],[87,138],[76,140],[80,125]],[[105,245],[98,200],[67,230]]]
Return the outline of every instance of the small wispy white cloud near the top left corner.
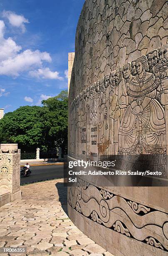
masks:
[[[7,18],[9,20],[9,23],[17,28],[21,28],[22,32],[24,33],[26,31],[25,24],[29,23],[29,20],[27,20],[23,15],[17,15],[16,13],[13,13],[11,11],[3,11],[3,17]]]

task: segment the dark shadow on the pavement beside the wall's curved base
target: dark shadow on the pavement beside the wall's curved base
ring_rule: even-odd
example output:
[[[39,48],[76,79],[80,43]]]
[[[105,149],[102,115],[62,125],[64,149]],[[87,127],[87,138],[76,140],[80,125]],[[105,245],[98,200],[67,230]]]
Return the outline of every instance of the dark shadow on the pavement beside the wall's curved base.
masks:
[[[55,184],[57,187],[58,195],[59,195],[59,202],[62,205],[62,209],[68,215],[67,212],[67,187],[64,186],[63,182],[58,182]]]

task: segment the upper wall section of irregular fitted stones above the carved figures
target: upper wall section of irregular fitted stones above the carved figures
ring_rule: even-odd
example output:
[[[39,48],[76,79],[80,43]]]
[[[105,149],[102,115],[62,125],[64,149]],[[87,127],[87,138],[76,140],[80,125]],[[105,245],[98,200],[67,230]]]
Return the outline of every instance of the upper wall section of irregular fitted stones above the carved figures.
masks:
[[[75,97],[111,71],[167,43],[166,0],[86,0],[75,42]]]

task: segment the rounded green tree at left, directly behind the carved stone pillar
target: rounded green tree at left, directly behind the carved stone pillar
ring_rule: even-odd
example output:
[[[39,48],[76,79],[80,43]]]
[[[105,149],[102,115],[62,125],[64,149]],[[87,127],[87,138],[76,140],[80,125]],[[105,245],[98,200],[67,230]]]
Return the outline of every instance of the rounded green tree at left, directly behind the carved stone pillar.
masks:
[[[18,143],[23,150],[33,150],[43,144],[45,109],[37,106],[20,107],[0,120],[0,141]]]

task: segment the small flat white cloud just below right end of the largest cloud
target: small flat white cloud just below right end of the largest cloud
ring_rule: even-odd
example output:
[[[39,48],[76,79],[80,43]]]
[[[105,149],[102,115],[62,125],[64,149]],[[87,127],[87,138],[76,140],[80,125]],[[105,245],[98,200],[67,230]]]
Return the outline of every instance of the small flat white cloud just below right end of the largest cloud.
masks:
[[[63,80],[63,77],[59,76],[59,72],[52,72],[49,68],[38,69],[29,72],[31,77],[43,78],[43,79],[58,79]]]

